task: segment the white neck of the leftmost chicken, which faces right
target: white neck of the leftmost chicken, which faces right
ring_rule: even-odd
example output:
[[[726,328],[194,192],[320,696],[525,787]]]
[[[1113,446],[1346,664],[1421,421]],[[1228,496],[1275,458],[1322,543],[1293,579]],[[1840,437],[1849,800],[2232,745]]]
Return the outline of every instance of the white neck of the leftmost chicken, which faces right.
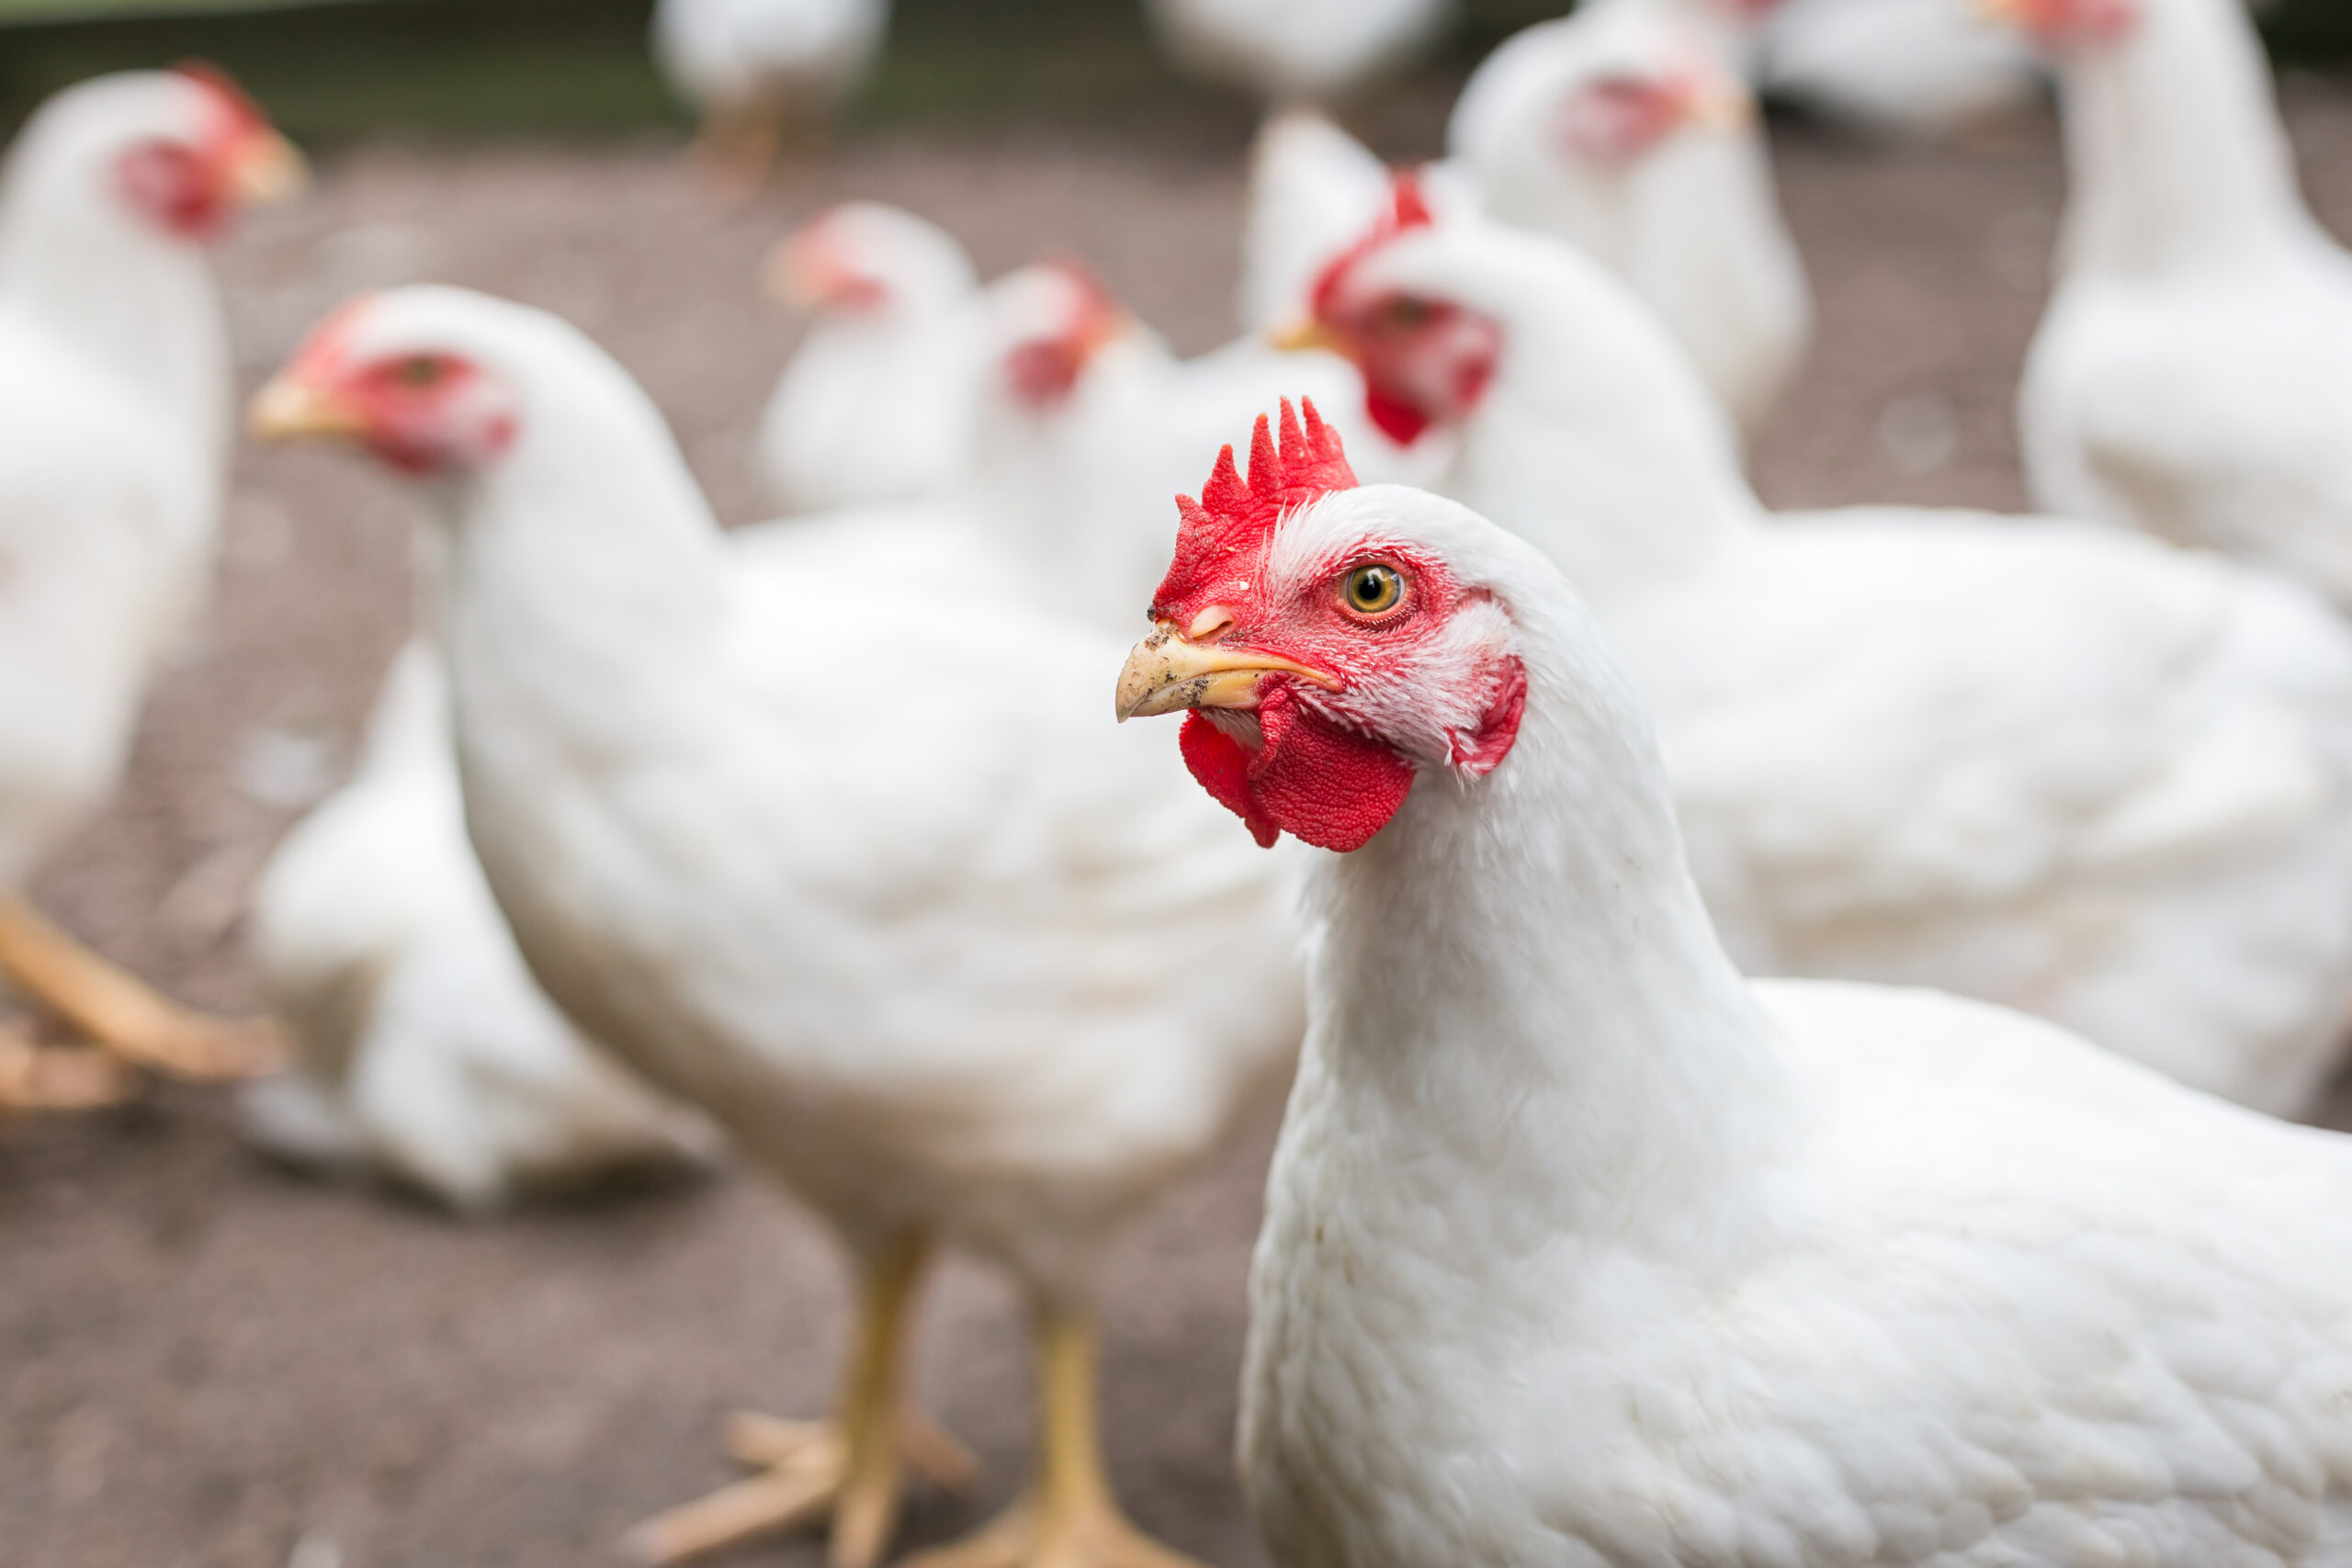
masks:
[[[153,397],[226,465],[228,331],[202,249],[139,221],[85,146],[45,146],[42,129],[28,127],[0,186],[0,299]]]

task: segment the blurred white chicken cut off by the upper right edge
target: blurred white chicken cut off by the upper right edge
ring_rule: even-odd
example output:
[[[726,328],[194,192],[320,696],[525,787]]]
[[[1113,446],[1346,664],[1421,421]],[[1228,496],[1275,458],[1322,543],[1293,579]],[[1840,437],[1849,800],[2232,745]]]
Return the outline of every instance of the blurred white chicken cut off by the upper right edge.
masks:
[[[2018,393],[2049,508],[2352,609],[2352,259],[2296,190],[2234,0],[2004,0],[2058,52],[2072,197]]]

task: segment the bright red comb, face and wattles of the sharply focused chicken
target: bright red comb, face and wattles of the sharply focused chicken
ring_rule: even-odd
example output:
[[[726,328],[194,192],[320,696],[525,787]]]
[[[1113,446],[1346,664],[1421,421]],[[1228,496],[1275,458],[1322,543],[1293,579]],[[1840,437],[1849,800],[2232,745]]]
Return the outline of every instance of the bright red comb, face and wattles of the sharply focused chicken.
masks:
[[[1421,559],[1402,543],[1367,538],[1317,562],[1305,590],[1270,597],[1265,557],[1279,517],[1355,482],[1341,461],[1338,473],[1348,484],[1282,484],[1284,470],[1305,468],[1298,458],[1310,451],[1298,440],[1287,402],[1282,414],[1282,456],[1291,456],[1291,463],[1277,458],[1261,418],[1249,463],[1254,494],[1237,498],[1228,447],[1202,503],[1181,505],[1178,557],[1152,602],[1152,618],[1176,625],[1197,644],[1275,654],[1336,682],[1331,689],[1279,670],[1261,675],[1254,736],[1249,719],[1230,710],[1195,710],[1185,715],[1181,745],[1192,778],[1240,816],[1261,846],[1272,846],[1289,832],[1305,844],[1352,851],[1404,806],[1425,762],[1472,778],[1501,764],[1517,738],[1526,677],[1517,661],[1482,670],[1482,717],[1468,731],[1446,731],[1444,757],[1406,755],[1383,736],[1378,710],[1395,701],[1395,677],[1430,651],[1472,595],[1454,583],[1444,564]],[[1329,435],[1312,407],[1308,421],[1317,437]],[[1329,451],[1338,451],[1336,435],[1329,437]],[[1345,599],[1350,574],[1367,564],[1388,567],[1402,578],[1397,602],[1378,614],[1357,611]],[[1383,679],[1390,696],[1374,698]]]

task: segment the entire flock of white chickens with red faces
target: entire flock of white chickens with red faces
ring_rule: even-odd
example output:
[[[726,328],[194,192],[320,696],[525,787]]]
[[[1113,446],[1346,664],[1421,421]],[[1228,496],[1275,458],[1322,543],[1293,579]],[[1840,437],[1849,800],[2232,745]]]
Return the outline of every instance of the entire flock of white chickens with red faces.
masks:
[[[1388,169],[1334,106],[1451,5],[1155,0],[1268,108],[1235,336],[835,207],[767,263],[811,324],[748,529],[569,322],[346,303],[247,423],[409,484],[428,590],[252,893],[275,1020],[24,889],[202,609],[202,249],[301,160],[209,71],[59,94],[0,183],[0,1110],[252,1079],[261,1147],[461,1211],[781,1182],[840,1399],[739,1418],[654,1563],[868,1568],[969,1481],[906,1371],[941,1248],[1016,1281],[1040,1420],[913,1561],[1185,1563],[1105,1476],[1103,1284],[1284,1093],[1284,1568],[2352,1563],[2352,1143],[2272,1119],[2352,1027],[2352,259],[2239,0],[1980,9],[1588,0]],[[663,0],[656,52],[746,188],[884,28]],[[2042,515],[1771,512],[1813,301],[1755,85],[1924,136],[2044,71]]]

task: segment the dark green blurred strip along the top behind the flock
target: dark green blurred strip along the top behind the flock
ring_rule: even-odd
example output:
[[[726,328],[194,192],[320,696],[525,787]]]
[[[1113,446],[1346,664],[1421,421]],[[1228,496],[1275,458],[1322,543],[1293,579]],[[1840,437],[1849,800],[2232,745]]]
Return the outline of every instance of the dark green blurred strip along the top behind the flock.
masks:
[[[0,0],[0,125],[66,82],[219,61],[303,141],[383,129],[628,134],[680,125],[644,52],[652,0]],[[1432,78],[1458,75],[1559,0],[1470,0]],[[2352,0],[2281,0],[2274,52],[2352,59]],[[1136,0],[898,0],[856,125],[1063,115],[1218,132],[1247,106],[1169,75]],[[1228,125],[1230,122],[1230,125]]]

